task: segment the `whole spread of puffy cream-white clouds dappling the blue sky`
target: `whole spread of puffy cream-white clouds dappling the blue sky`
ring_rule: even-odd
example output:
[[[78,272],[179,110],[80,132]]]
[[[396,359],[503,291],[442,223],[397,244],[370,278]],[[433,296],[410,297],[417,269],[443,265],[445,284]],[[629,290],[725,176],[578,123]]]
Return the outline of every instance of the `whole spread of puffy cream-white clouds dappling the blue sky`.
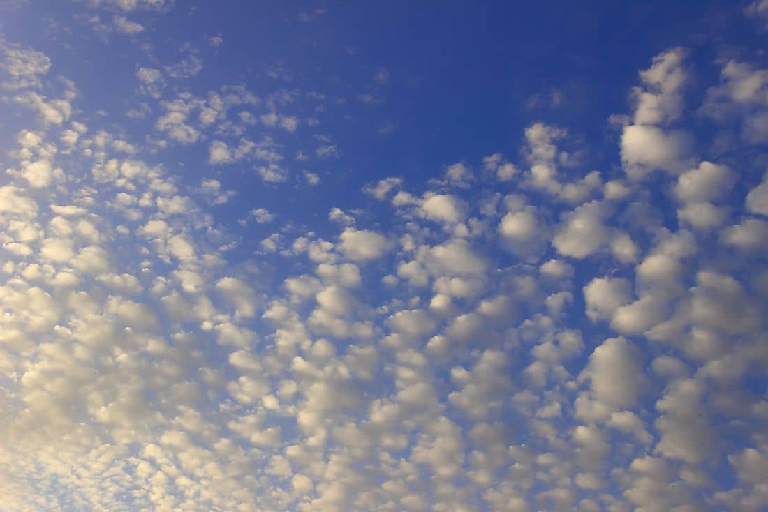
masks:
[[[292,94],[137,67],[163,144],[3,51],[6,105],[35,115],[0,182],[2,506],[768,507],[768,175],[698,156],[684,49],[640,72],[614,170],[535,122],[520,162],[388,177],[312,229],[261,197],[215,214],[243,194],[212,168],[292,193]],[[724,63],[699,114],[758,144],[764,75]]]

